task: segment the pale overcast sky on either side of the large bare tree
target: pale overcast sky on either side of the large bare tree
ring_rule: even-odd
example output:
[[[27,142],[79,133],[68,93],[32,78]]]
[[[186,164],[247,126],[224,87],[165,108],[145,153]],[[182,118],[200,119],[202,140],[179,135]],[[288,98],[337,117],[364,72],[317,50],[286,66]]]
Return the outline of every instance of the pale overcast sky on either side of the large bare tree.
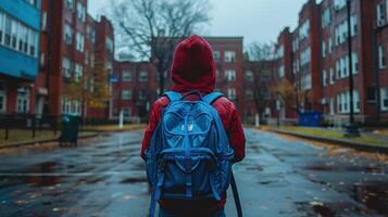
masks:
[[[293,29],[298,13],[308,0],[210,0],[208,36],[243,36],[245,43],[275,41],[279,31]],[[103,13],[109,0],[89,0],[92,16]]]

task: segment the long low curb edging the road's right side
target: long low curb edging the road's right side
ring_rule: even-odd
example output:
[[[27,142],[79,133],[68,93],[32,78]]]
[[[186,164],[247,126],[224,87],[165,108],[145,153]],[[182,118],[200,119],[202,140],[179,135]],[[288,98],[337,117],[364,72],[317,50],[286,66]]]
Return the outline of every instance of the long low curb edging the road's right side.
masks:
[[[314,140],[314,141],[318,141],[318,142],[333,143],[333,144],[337,144],[337,145],[345,146],[345,148],[352,148],[352,149],[355,149],[359,151],[379,152],[379,153],[388,154],[388,146],[376,146],[376,145],[368,144],[368,143],[351,142],[351,141],[347,141],[347,140],[329,139],[329,138],[324,138],[324,137],[315,137],[315,136],[302,135],[302,133],[298,133],[298,132],[289,132],[289,131],[279,130],[279,129],[266,129],[266,131],[271,131],[271,132],[275,132],[275,133],[279,133],[279,135],[288,135],[288,136],[299,137],[302,139]]]

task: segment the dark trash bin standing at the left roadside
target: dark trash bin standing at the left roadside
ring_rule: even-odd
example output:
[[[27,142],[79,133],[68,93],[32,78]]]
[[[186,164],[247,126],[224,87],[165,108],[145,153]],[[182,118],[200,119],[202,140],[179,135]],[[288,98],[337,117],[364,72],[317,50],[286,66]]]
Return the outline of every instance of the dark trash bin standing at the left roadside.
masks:
[[[63,145],[65,143],[68,143],[70,145],[77,145],[79,122],[79,117],[75,115],[62,116],[60,145]]]

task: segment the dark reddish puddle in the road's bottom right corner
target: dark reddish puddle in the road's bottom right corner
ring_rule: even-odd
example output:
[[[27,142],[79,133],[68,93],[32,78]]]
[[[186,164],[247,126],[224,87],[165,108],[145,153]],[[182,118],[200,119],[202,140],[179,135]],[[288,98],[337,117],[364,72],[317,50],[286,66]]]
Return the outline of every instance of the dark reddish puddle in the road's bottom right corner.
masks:
[[[368,209],[388,215],[388,183],[359,183],[353,187],[353,199]]]

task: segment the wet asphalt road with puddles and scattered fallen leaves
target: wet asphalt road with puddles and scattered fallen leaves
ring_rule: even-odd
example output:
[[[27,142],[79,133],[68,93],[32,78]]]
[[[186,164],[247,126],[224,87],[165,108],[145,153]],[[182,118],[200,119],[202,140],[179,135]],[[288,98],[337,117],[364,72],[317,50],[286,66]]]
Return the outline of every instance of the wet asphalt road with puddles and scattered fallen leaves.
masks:
[[[246,129],[234,166],[245,217],[388,216],[388,164]],[[0,216],[147,215],[141,131],[0,155]],[[230,193],[230,192],[229,192]],[[226,214],[236,216],[229,195]]]

